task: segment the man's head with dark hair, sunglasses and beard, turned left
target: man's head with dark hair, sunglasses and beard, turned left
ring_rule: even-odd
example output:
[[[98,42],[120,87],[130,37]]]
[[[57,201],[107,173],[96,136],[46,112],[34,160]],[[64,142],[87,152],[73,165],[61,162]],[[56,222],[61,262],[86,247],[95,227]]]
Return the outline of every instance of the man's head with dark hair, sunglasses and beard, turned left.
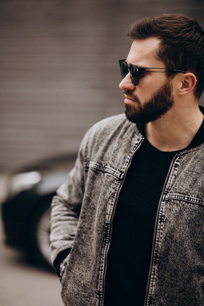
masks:
[[[198,101],[204,89],[204,32],[196,21],[179,14],[145,18],[131,25],[128,36],[134,42],[120,61],[119,87],[129,120],[157,120],[188,93]]]

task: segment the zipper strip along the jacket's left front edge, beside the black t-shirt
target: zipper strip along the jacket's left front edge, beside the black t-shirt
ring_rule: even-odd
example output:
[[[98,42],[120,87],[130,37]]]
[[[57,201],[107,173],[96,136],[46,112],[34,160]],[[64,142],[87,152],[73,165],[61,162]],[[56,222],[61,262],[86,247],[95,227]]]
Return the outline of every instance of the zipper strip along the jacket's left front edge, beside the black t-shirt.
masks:
[[[107,258],[108,258],[108,251],[109,251],[109,247],[110,247],[110,244],[111,244],[111,236],[112,236],[112,229],[113,229],[113,218],[114,218],[114,214],[115,214],[115,209],[116,209],[116,206],[117,206],[117,201],[118,201],[118,197],[119,197],[119,194],[120,194],[120,191],[122,189],[122,186],[124,184],[124,181],[125,181],[125,178],[126,178],[126,175],[127,175],[127,172],[128,172],[128,169],[131,165],[131,162],[132,162],[132,159],[133,159],[133,156],[134,154],[136,153],[136,151],[139,149],[139,147],[141,146],[142,142],[144,141],[144,138],[142,138],[140,140],[140,142],[138,143],[135,151],[132,153],[132,156],[130,158],[130,161],[129,161],[129,164],[125,170],[125,174],[124,174],[124,177],[123,177],[123,181],[117,191],[117,195],[116,195],[116,198],[115,198],[115,203],[114,203],[114,207],[113,207],[113,213],[112,213],[112,216],[111,216],[111,220],[110,220],[110,235],[109,235],[109,241],[108,241],[108,246],[107,246],[107,249],[106,249],[106,254],[105,254],[105,264],[104,264],[104,273],[103,273],[103,285],[102,285],[102,297],[101,297],[101,306],[104,305],[104,296],[105,296],[105,278],[106,278],[106,271],[107,271]]]

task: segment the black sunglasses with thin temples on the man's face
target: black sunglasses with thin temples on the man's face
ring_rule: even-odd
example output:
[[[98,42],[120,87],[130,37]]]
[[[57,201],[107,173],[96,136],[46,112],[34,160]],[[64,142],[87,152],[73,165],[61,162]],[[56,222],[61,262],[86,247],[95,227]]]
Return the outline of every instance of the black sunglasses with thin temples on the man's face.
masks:
[[[135,65],[130,65],[128,66],[126,60],[119,60],[119,65],[120,65],[120,72],[122,75],[122,78],[124,79],[124,77],[130,72],[130,78],[131,78],[131,82],[136,86],[139,84],[139,76],[144,73],[144,72],[172,72],[172,73],[187,73],[186,71],[180,70],[180,69],[168,69],[168,68],[141,68],[141,67],[137,67]],[[146,69],[159,69],[159,70],[165,70],[165,71],[152,71],[152,70],[148,70],[146,71]]]

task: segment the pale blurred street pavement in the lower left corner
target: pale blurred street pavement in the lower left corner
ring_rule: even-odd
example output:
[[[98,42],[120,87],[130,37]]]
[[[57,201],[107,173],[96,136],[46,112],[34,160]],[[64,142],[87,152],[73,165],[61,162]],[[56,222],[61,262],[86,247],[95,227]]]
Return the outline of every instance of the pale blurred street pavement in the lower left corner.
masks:
[[[60,290],[55,273],[4,245],[0,218],[0,306],[63,306]]]

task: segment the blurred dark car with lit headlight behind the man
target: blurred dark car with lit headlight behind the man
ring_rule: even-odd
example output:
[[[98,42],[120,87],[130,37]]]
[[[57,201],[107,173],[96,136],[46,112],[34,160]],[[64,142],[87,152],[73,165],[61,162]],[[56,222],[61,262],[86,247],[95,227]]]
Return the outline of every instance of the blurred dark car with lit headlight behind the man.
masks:
[[[50,204],[74,165],[76,154],[43,160],[9,176],[1,205],[5,243],[23,250],[35,262],[51,266]]]

